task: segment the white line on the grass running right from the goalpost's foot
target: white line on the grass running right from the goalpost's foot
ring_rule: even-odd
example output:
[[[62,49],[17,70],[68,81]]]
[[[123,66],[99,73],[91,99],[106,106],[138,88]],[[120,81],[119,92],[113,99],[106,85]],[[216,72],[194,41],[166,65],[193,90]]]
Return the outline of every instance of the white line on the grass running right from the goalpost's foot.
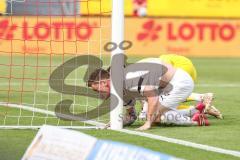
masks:
[[[228,150],[228,149],[213,147],[213,146],[209,146],[209,145],[198,144],[198,143],[189,142],[189,141],[185,141],[185,140],[168,138],[168,137],[164,137],[164,136],[159,136],[159,135],[145,133],[145,132],[139,132],[139,131],[133,131],[133,130],[128,130],[128,129],[121,129],[118,131],[127,133],[127,134],[131,134],[131,135],[137,135],[137,136],[141,136],[141,137],[164,141],[164,142],[168,142],[168,143],[183,145],[186,147],[192,147],[192,148],[201,149],[201,150],[205,150],[205,151],[211,151],[211,152],[216,152],[216,153],[220,153],[220,154],[226,154],[226,155],[231,155],[231,156],[235,156],[235,157],[240,157],[239,151]]]

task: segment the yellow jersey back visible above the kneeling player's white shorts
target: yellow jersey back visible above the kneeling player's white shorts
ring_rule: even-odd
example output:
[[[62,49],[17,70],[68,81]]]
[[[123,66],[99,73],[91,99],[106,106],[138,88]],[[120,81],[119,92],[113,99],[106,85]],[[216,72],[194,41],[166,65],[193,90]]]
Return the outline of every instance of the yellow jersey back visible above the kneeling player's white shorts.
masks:
[[[190,59],[176,54],[164,54],[159,57],[165,63],[171,64],[175,68],[181,68],[186,71],[193,79],[197,79],[197,71]]]

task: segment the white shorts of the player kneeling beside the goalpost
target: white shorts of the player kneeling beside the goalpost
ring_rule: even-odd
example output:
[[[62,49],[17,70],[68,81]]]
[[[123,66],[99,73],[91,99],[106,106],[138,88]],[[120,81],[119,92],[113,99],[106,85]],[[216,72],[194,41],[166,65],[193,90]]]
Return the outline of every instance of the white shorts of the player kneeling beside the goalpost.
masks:
[[[192,93],[194,82],[186,71],[178,68],[169,83],[172,85],[172,90],[159,96],[159,102],[164,107],[177,110],[179,104],[186,101]]]

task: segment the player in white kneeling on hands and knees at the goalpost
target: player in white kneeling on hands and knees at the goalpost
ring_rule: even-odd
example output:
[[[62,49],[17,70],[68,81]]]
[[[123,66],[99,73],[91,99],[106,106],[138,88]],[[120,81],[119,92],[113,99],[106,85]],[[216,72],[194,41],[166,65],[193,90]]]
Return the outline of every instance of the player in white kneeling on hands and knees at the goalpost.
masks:
[[[136,64],[143,64],[146,68],[141,67],[142,70],[132,72]],[[139,130],[149,129],[153,122],[160,121],[177,125],[209,125],[204,114],[196,113],[191,119],[177,111],[177,106],[189,97],[194,88],[188,73],[158,58],[144,59],[136,64],[125,68],[123,90],[125,105],[132,106],[131,109],[136,98],[141,97],[148,102],[147,121]],[[97,69],[90,75],[88,86],[107,98],[110,96],[109,78],[107,71]]]

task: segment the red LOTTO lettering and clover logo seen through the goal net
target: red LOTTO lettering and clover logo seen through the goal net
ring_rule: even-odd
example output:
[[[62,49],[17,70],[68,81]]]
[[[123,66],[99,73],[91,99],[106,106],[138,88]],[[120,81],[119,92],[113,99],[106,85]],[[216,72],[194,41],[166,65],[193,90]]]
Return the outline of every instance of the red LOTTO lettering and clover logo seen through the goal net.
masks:
[[[88,40],[93,28],[96,24],[90,25],[88,22],[38,21],[30,24],[24,20],[15,24],[10,19],[4,19],[0,21],[0,39],[13,40],[17,31],[22,40]]]

